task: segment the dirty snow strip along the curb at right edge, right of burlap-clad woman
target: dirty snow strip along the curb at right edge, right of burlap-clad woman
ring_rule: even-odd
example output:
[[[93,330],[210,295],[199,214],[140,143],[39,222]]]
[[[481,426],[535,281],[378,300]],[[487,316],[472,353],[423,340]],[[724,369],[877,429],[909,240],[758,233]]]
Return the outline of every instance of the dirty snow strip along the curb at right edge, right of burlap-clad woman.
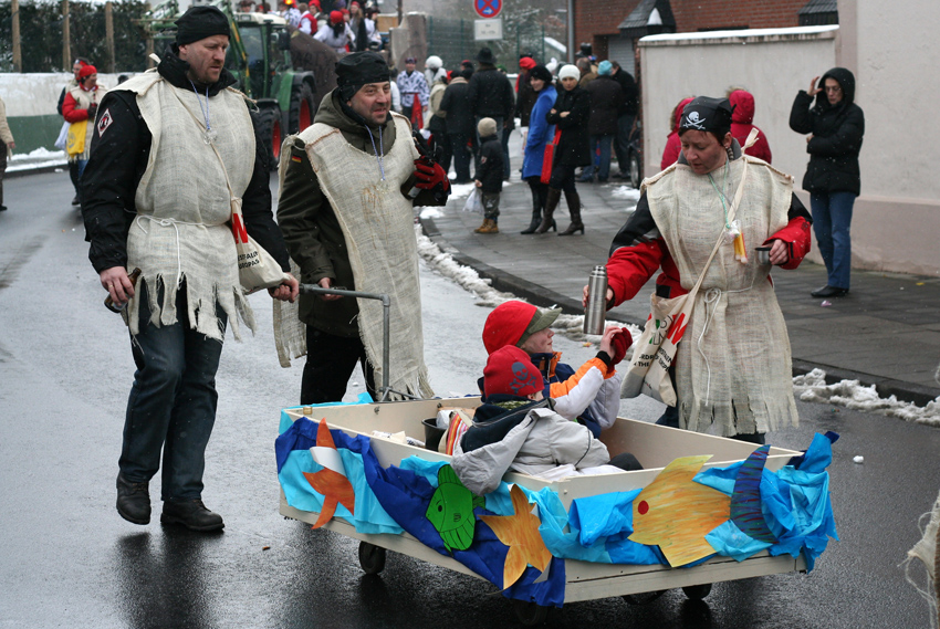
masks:
[[[827,385],[826,373],[822,369],[813,369],[805,376],[794,377],[793,394],[804,402],[832,403],[852,410],[877,412],[905,421],[940,427],[940,397],[925,407],[900,401],[895,396],[885,399],[878,397],[875,385],[866,387],[858,380],[842,380]]]

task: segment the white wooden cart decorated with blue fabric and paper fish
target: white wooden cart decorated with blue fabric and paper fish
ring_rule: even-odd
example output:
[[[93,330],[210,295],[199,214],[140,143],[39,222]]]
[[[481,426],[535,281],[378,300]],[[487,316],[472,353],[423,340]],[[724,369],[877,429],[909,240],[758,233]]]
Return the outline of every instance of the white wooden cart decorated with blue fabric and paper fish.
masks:
[[[359,539],[369,574],[380,573],[393,551],[491,580],[525,625],[562,602],[671,588],[702,598],[713,583],[806,572],[835,536],[824,471],[831,450],[822,436],[803,469],[801,460],[791,463],[801,452],[620,418],[602,440],[612,457],[629,451],[644,470],[557,481],[511,472],[500,490],[476,496],[455,484],[451,457],[374,434],[422,441],[422,420],[479,403],[285,409],[281,514]],[[461,500],[470,502],[461,509]],[[657,510],[660,517],[641,530]]]

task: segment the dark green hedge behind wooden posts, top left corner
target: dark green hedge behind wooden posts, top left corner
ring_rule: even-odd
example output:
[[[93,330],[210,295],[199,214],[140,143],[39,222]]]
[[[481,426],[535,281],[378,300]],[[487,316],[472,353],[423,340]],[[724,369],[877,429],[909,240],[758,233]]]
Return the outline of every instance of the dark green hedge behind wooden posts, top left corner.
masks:
[[[112,3],[115,72],[147,69],[144,31],[134,23],[146,11],[139,0]],[[103,3],[69,3],[72,59],[88,59],[100,72],[107,72],[111,61],[104,13]],[[0,2],[0,72],[13,71],[12,24],[10,2]],[[71,72],[71,63],[62,67],[62,24],[61,2],[20,1],[22,72]]]

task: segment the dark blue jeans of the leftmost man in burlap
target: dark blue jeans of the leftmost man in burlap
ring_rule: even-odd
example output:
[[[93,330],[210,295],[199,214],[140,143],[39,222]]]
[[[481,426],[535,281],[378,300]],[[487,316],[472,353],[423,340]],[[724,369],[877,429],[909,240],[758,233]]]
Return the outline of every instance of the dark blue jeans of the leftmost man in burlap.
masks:
[[[185,286],[177,292],[177,323],[160,327],[149,323],[147,286],[140,283],[137,289],[140,332],[130,339],[137,370],[118,466],[130,482],[149,481],[160,469],[163,450],[160,499],[199,499],[206,445],[216,422],[222,342],[190,327]],[[220,307],[217,316],[224,331],[227,317]]]

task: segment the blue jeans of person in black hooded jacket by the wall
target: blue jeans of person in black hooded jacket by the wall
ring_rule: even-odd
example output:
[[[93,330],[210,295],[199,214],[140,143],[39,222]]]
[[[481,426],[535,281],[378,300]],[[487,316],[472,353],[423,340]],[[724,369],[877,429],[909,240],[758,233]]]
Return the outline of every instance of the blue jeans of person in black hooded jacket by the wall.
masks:
[[[826,284],[836,289],[849,287],[852,274],[852,208],[854,192],[813,193],[813,231],[819,243],[819,254],[826,263]]]

